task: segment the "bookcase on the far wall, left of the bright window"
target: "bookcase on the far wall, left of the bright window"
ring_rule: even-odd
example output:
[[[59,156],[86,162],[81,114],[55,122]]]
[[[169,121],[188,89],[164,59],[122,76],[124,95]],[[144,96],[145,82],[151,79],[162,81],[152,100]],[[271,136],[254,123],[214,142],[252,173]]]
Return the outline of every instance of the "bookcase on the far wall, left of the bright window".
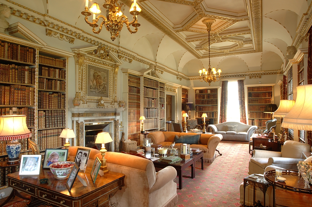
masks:
[[[213,119],[214,124],[218,124],[219,109],[219,88],[193,88],[195,89],[195,118],[202,118],[203,113],[207,113],[206,119]],[[206,128],[207,132],[212,132]]]

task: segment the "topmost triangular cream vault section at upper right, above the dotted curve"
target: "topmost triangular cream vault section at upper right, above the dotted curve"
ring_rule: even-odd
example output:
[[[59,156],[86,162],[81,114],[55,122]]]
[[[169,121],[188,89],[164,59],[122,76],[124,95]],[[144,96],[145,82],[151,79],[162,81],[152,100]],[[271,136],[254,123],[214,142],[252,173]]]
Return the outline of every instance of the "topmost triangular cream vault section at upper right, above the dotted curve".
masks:
[[[296,29],[300,22],[301,17],[290,10],[277,10],[265,15],[281,23],[289,31],[292,38],[296,36]]]

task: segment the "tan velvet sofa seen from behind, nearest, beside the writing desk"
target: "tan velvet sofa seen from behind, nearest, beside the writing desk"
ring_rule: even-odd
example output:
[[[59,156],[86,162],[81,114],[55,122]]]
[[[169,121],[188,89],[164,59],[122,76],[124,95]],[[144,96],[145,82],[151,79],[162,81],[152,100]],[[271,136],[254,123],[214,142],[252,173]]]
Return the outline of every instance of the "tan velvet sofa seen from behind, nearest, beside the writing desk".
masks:
[[[69,147],[72,161],[77,148]],[[100,151],[91,149],[88,167],[93,166],[96,157],[102,158]],[[118,152],[106,152],[105,159],[107,170],[125,174],[124,187],[111,198],[117,207],[173,207],[178,202],[174,167],[168,166],[156,173],[151,160]]]

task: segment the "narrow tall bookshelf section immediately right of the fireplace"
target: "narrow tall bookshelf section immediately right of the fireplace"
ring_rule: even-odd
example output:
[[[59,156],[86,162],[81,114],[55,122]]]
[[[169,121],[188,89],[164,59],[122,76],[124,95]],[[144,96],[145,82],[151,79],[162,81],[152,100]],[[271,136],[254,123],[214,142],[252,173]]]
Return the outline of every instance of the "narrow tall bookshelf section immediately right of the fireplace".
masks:
[[[139,76],[128,74],[128,139],[140,146],[140,84]]]

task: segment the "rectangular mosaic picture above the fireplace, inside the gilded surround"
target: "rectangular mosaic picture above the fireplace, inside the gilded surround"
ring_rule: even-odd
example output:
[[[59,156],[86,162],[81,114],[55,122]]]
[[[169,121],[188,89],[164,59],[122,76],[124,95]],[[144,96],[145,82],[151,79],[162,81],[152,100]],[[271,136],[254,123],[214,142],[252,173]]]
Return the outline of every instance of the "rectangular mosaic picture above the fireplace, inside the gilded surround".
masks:
[[[109,70],[88,65],[88,96],[108,97]]]

